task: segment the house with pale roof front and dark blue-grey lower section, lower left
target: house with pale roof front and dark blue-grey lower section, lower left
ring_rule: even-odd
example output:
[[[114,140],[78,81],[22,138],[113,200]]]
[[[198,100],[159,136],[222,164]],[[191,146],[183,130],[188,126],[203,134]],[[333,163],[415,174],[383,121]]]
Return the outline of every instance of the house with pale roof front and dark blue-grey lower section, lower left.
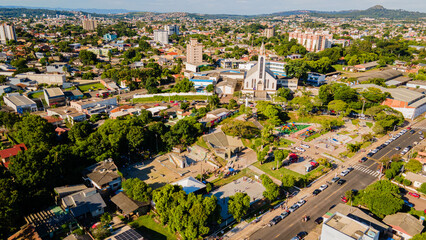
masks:
[[[62,207],[76,218],[96,217],[104,213],[106,204],[96,188],[87,188],[62,198]]]

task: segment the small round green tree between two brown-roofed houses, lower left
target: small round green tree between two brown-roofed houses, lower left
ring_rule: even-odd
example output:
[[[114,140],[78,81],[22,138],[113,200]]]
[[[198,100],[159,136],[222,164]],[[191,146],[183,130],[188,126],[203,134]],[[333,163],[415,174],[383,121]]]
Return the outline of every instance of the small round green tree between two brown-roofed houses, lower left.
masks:
[[[123,183],[123,190],[131,199],[139,202],[148,202],[151,200],[152,189],[139,178],[129,178]]]

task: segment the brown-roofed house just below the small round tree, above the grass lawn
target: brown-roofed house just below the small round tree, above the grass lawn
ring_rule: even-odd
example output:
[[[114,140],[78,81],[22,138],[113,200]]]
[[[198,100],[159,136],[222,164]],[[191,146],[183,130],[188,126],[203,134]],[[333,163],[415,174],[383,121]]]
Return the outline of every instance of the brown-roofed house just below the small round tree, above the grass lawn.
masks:
[[[119,192],[111,198],[111,201],[117,206],[124,216],[145,214],[150,209],[150,202],[139,202],[129,198],[124,192]]]

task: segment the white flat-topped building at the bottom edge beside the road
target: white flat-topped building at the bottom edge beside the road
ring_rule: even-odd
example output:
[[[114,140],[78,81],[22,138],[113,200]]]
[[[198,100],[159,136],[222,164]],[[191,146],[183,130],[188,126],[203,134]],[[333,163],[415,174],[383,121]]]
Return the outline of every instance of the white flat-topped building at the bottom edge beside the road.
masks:
[[[324,221],[321,240],[379,240],[380,232],[339,212]]]

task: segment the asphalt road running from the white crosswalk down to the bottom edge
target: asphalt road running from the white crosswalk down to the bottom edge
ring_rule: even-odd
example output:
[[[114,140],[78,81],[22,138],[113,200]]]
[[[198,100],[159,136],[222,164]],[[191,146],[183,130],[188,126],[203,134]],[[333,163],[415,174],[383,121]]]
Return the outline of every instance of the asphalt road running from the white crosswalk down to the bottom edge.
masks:
[[[265,240],[265,239],[280,239],[287,240],[296,236],[301,231],[309,232],[315,228],[315,219],[323,216],[331,206],[341,203],[341,196],[346,191],[351,189],[363,189],[378,180],[376,170],[378,163],[373,160],[368,160],[363,164],[357,164],[355,170],[343,177],[347,182],[342,186],[334,183],[329,186],[324,192],[317,196],[309,195],[307,203],[301,208],[291,213],[287,218],[283,219],[277,225],[272,227],[264,227],[250,236],[252,240]],[[296,196],[301,198],[303,196]],[[274,210],[276,215],[280,214],[282,210]],[[310,216],[311,220],[302,222],[304,215]]]

